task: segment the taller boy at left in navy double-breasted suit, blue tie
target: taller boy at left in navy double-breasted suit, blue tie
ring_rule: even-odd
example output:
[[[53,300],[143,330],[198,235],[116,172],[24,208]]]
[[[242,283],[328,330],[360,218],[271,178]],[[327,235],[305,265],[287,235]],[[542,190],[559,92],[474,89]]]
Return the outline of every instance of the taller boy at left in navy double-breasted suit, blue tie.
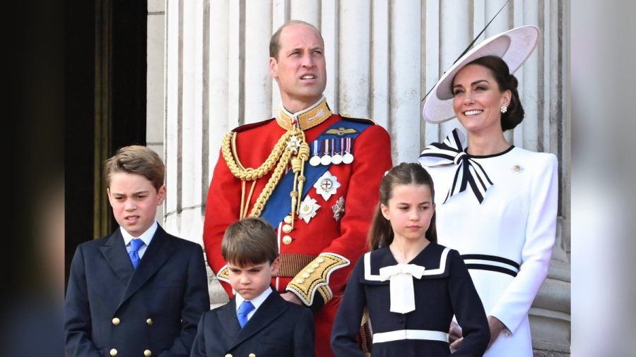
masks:
[[[105,163],[119,227],[82,243],[66,290],[66,353],[75,356],[188,356],[196,322],[209,310],[199,244],[155,221],[165,199],[165,167],[139,145]]]

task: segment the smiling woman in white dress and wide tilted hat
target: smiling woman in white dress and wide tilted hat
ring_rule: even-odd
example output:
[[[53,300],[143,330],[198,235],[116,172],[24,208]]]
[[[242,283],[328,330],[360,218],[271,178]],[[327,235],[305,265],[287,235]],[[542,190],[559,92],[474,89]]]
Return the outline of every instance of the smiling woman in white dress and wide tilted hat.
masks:
[[[423,108],[429,123],[456,116],[468,134],[466,143],[455,129],[419,161],[435,182],[439,243],[459,250],[488,315],[490,357],[532,356],[528,310],[555,241],[557,159],[503,135],[524,118],[512,73],[538,34],[524,26],[484,40],[442,75]]]

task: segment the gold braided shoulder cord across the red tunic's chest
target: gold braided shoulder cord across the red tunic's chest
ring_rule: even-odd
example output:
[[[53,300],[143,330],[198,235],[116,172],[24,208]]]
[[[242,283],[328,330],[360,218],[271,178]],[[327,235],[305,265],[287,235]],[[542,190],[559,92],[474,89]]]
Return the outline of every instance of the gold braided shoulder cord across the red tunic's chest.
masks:
[[[263,188],[256,202],[254,202],[252,212],[249,213],[250,217],[259,217],[261,215],[267,200],[269,200],[273,189],[276,187],[276,184],[278,184],[278,181],[280,181],[281,176],[283,176],[283,173],[291,160],[292,170],[294,172],[294,184],[292,191],[290,192],[292,210],[291,225],[293,228],[295,212],[298,210],[298,205],[300,205],[300,200],[298,200],[298,198],[302,195],[302,188],[305,182],[305,161],[309,159],[310,155],[310,147],[305,141],[305,133],[300,130],[298,126],[294,126],[284,133],[283,136],[278,139],[278,143],[274,145],[269,157],[267,157],[265,162],[256,169],[252,169],[251,167],[244,168],[242,164],[240,164],[240,160],[238,159],[236,152],[235,140],[235,132],[225,134],[221,141],[221,152],[225,162],[228,164],[228,168],[232,172],[232,175],[242,181],[239,219],[247,217],[247,205],[249,205],[249,201],[252,198],[256,181],[273,169],[269,181],[267,181],[265,188]],[[245,198],[246,181],[253,181],[247,200]]]

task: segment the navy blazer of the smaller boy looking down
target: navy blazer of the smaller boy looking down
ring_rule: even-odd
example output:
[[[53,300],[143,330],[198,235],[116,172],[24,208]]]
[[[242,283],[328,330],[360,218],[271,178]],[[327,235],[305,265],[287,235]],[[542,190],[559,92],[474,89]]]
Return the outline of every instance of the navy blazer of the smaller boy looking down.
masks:
[[[247,324],[241,328],[236,302],[201,316],[192,345],[191,357],[315,356],[314,316],[309,308],[290,303],[276,291],[265,299]]]

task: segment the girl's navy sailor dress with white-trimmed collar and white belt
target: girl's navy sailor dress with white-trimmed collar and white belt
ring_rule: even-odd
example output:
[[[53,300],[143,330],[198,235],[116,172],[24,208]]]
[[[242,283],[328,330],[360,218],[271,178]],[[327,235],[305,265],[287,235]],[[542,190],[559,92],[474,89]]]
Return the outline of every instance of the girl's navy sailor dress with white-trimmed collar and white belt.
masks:
[[[391,280],[380,269],[398,265],[389,248],[363,255],[355,265],[331,334],[336,356],[363,356],[356,334],[365,307],[373,330],[372,356],[449,356],[448,329],[453,315],[464,341],[453,356],[482,356],[490,332],[481,300],[457,253],[430,243],[408,265],[424,267],[413,277],[415,310],[391,312]]]

